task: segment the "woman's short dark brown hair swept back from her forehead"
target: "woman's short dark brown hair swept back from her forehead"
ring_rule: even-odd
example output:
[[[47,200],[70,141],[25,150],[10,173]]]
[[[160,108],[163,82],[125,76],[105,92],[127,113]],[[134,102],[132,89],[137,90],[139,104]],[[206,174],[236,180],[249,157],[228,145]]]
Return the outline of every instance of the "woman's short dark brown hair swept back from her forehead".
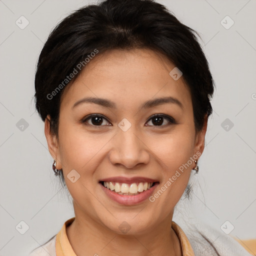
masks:
[[[50,115],[51,132],[58,135],[60,97],[66,87],[63,81],[64,85],[71,84],[66,76],[74,68],[79,73],[86,67],[78,69],[78,63],[95,49],[100,54],[109,49],[149,48],[163,53],[181,70],[191,93],[195,129],[199,131],[205,115],[212,112],[214,81],[196,35],[153,0],[105,0],[84,6],[51,31],[41,50],[34,81],[36,110],[43,121]],[[56,93],[57,87],[61,90]]]

